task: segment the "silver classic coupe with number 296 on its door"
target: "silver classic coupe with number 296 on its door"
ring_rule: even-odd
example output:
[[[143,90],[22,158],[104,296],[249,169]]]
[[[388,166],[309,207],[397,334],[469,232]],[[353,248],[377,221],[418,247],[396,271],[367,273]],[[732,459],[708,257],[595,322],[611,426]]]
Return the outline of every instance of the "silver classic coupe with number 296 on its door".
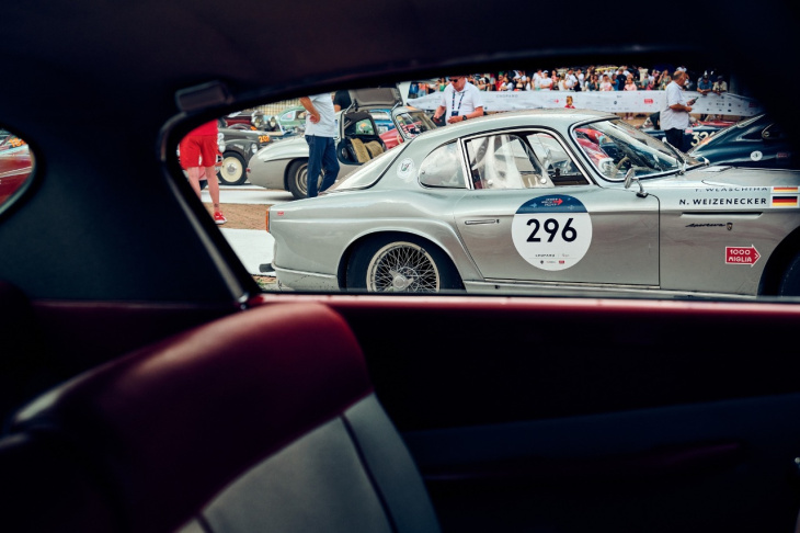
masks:
[[[427,132],[274,205],[282,288],[800,294],[800,173],[709,166],[583,110]]]

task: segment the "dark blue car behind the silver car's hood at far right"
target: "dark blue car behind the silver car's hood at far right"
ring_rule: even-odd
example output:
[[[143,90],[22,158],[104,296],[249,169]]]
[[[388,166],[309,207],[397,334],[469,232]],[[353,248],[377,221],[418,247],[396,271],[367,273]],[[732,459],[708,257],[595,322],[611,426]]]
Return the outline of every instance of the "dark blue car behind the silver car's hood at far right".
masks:
[[[800,157],[779,124],[761,114],[716,133],[689,155],[712,165],[765,169],[800,169]]]

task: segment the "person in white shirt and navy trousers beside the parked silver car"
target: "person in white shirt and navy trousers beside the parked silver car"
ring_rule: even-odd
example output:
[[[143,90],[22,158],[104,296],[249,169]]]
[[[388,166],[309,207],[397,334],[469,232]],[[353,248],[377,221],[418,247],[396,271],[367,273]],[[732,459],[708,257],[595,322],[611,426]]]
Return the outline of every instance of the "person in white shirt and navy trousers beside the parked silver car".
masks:
[[[336,136],[333,99],[325,92],[300,98],[306,107],[306,143],[308,143],[308,197],[317,196],[320,171],[324,170],[319,191],[331,186],[339,175],[339,161],[333,138]]]

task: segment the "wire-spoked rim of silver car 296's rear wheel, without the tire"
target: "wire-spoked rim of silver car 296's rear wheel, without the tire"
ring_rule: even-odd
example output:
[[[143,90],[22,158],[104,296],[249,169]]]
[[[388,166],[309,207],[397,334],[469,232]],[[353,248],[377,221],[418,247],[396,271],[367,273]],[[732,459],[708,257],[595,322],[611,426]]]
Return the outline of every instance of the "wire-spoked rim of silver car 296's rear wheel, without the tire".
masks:
[[[436,262],[412,242],[391,242],[373,256],[367,266],[367,291],[435,293],[441,275]]]

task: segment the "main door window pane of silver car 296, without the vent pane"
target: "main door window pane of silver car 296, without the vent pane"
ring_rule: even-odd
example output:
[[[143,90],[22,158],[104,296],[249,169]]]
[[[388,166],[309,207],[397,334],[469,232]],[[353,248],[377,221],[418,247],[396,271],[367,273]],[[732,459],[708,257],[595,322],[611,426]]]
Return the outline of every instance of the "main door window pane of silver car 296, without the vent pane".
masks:
[[[476,189],[552,186],[539,160],[517,135],[490,135],[466,145]]]

